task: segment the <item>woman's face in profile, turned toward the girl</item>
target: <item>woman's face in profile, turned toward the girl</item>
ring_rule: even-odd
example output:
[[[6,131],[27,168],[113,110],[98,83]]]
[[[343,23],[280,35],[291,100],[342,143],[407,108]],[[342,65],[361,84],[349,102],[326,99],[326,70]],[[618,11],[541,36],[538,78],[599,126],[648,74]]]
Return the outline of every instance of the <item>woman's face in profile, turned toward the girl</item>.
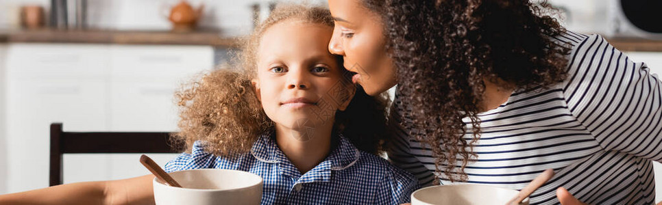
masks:
[[[345,68],[357,72],[352,81],[371,96],[395,85],[395,67],[385,49],[382,20],[360,0],[329,0],[336,26],[329,51],[342,55]]]

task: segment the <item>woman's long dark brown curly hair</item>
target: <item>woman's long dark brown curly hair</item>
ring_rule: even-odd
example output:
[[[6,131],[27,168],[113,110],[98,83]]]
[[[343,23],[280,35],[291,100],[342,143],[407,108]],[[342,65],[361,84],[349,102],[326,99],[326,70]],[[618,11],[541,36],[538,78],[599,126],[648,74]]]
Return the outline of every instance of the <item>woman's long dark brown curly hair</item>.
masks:
[[[363,0],[381,14],[397,69],[398,93],[413,112],[415,139],[430,146],[437,172],[451,181],[476,159],[478,113],[485,82],[506,90],[536,90],[567,75],[566,45],[550,36],[565,29],[528,0]],[[471,120],[472,139],[464,118]],[[443,172],[440,172],[443,171]]]

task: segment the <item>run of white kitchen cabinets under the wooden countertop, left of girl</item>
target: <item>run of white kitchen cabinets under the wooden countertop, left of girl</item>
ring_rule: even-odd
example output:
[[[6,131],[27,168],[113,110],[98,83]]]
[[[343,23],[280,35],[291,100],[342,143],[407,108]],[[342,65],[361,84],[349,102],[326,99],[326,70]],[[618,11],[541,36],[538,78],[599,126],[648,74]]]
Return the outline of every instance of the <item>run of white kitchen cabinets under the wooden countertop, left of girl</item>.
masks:
[[[0,194],[48,186],[52,122],[65,131],[175,131],[175,89],[213,67],[209,46],[10,44],[7,53]],[[139,154],[120,155],[65,154],[64,182],[148,173]],[[175,155],[153,158],[164,165]]]

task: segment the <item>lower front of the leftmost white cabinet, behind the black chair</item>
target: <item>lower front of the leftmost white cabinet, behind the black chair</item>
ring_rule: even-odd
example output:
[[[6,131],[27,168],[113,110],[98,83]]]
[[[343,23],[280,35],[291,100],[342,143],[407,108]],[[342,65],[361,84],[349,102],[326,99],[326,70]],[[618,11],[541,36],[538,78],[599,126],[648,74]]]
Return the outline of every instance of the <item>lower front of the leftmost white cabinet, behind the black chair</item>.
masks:
[[[9,82],[8,191],[47,186],[49,124],[62,122],[72,131],[106,130],[107,83],[102,79]],[[76,168],[104,167],[106,162],[88,161],[84,165]]]

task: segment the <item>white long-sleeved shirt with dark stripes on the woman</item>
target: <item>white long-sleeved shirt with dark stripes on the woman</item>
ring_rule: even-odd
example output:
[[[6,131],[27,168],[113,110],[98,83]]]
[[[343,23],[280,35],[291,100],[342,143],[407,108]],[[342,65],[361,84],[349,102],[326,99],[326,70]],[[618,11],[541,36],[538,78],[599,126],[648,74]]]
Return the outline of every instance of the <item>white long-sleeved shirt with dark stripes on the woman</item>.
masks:
[[[553,168],[554,178],[530,195],[530,204],[558,204],[557,187],[589,204],[653,204],[652,161],[662,161],[659,78],[598,35],[552,38],[572,46],[567,79],[513,92],[500,107],[478,114],[482,133],[477,161],[465,169],[468,183],[522,189]],[[431,184],[432,151],[409,137],[411,109],[397,95],[391,118],[399,137],[389,158]],[[471,140],[471,121],[463,121]]]

